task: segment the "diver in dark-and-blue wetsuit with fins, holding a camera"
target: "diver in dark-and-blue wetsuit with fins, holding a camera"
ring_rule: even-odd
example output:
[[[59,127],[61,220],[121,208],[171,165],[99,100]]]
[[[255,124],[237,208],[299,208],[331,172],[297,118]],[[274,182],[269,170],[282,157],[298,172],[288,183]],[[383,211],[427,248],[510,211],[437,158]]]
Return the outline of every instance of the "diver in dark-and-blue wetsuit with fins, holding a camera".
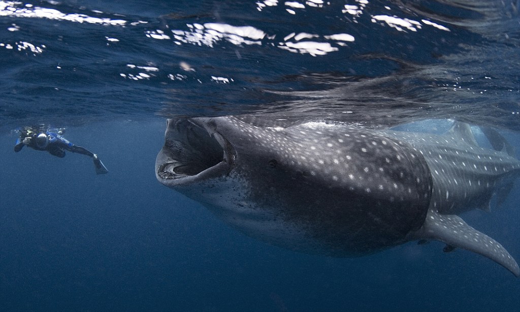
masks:
[[[64,129],[59,129],[57,132],[51,132],[43,127],[23,127],[20,132],[20,137],[16,141],[15,152],[20,152],[24,145],[27,145],[37,151],[47,151],[49,154],[57,157],[65,157],[65,150],[72,153],[79,153],[90,156],[94,159],[94,167],[96,168],[96,174],[108,173],[107,168],[98,156],[85,147],[77,146],[63,138]]]

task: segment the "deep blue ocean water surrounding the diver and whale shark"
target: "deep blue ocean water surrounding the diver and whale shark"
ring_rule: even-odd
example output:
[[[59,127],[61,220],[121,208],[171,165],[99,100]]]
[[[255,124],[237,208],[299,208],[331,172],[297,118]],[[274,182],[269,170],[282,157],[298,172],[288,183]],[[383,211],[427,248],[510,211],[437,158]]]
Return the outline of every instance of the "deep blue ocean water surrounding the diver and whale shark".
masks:
[[[454,118],[520,149],[517,1],[0,1],[2,310],[519,310],[485,257],[414,242],[358,259],[269,246],[162,186],[168,116],[383,128]],[[66,127],[60,159],[15,129]],[[424,124],[421,124],[421,127]],[[518,182],[464,220],[520,259]]]

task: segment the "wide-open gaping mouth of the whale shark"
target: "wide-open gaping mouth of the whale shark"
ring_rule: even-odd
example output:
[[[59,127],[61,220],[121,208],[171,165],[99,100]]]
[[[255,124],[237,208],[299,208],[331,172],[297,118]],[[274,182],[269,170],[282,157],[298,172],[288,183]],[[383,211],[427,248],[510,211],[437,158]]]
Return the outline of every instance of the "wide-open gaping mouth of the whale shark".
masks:
[[[235,151],[220,133],[196,119],[170,119],[155,162],[163,184],[179,185],[226,175]]]

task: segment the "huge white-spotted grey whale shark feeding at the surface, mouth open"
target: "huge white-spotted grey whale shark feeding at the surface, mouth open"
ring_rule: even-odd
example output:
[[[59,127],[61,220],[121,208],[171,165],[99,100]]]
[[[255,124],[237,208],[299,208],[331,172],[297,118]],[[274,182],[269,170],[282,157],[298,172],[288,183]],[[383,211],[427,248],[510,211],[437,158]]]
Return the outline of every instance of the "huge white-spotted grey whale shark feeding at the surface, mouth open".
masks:
[[[173,118],[155,161],[159,182],[242,233],[286,249],[358,257],[438,240],[520,276],[495,239],[461,213],[489,210],[520,173],[509,144],[453,121],[444,134],[256,115]],[[500,198],[499,198],[500,201]]]

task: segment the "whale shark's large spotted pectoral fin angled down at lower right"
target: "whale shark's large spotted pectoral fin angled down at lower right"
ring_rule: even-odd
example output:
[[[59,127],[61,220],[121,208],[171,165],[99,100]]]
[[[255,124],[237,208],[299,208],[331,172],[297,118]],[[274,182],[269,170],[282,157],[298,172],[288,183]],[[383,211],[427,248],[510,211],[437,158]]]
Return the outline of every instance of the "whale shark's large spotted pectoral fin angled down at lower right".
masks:
[[[467,225],[459,216],[441,215],[429,210],[424,225],[414,234],[417,239],[435,239],[448,246],[473,251],[497,262],[520,277],[520,268],[505,248],[491,237]]]

